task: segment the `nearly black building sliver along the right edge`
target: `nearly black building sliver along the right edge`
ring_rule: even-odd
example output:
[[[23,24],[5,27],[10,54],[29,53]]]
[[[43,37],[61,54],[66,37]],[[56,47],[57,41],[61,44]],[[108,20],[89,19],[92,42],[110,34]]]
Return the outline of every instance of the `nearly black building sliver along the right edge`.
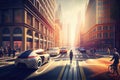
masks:
[[[115,47],[118,49],[120,53],[120,1],[119,0],[111,0],[111,18],[115,20]]]

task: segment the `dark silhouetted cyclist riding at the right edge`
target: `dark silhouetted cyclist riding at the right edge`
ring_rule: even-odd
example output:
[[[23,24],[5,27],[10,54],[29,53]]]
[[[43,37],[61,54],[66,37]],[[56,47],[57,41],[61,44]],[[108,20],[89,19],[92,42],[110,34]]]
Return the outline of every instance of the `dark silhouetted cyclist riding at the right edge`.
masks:
[[[119,73],[118,73],[118,64],[119,64],[119,53],[117,52],[117,49],[116,48],[114,48],[113,49],[113,57],[112,57],[112,59],[110,60],[110,61],[113,61],[113,64],[112,64],[112,66],[114,66],[114,68],[115,68],[115,71],[116,71],[116,73],[119,75]]]

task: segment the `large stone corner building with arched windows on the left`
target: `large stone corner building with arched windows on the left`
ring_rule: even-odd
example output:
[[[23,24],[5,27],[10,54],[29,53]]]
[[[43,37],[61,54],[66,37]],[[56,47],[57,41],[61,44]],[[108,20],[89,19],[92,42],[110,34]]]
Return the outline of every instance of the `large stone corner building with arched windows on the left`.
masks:
[[[55,0],[0,0],[0,46],[54,46]]]

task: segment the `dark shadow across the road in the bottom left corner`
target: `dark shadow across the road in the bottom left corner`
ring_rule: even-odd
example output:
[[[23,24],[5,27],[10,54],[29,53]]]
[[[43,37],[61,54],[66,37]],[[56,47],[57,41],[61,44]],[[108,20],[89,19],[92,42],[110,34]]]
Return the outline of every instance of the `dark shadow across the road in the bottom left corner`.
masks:
[[[9,65],[0,68],[0,80],[24,80],[35,70],[18,69],[15,65]]]

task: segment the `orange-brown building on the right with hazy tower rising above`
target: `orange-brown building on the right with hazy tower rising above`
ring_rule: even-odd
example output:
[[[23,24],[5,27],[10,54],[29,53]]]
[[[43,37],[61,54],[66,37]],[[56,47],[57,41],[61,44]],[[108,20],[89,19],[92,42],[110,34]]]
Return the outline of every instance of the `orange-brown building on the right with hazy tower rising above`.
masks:
[[[98,50],[115,47],[115,21],[110,16],[111,4],[110,0],[89,0],[82,46]]]

